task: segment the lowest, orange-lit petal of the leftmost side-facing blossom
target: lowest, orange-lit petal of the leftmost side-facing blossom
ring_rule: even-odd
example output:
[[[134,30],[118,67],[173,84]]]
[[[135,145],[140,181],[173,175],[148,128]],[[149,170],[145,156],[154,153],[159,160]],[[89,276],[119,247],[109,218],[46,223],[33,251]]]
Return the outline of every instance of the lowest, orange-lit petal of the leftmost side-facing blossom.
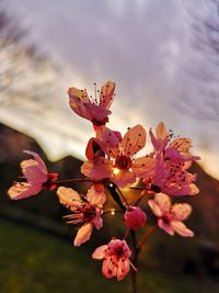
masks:
[[[42,190],[42,185],[31,185],[30,183],[15,183],[8,191],[12,200],[22,200],[37,194]]]

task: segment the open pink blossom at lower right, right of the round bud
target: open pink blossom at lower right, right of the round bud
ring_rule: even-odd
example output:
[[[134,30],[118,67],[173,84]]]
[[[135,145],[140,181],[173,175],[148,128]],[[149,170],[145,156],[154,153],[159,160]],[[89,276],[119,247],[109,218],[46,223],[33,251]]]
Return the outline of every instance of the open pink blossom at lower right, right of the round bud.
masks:
[[[166,194],[158,193],[154,200],[148,201],[153,214],[158,217],[158,225],[169,235],[174,233],[183,237],[193,237],[194,233],[183,223],[192,213],[192,206],[187,203],[171,204],[171,200]]]

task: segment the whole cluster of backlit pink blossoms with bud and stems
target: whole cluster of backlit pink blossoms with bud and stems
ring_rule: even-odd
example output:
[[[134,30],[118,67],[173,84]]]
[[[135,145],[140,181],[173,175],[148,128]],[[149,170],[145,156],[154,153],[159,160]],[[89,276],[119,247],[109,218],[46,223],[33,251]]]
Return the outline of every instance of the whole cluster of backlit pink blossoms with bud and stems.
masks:
[[[115,97],[114,91],[113,81],[106,82],[100,91],[95,84],[94,97],[89,95],[87,90],[77,88],[68,91],[72,111],[90,121],[94,129],[94,136],[87,145],[87,160],[81,166],[82,174],[91,183],[87,194],[61,185],[64,181],[58,180],[59,174],[50,173],[42,158],[30,150],[25,153],[33,158],[21,162],[24,181],[15,182],[8,193],[12,200],[21,200],[35,195],[43,189],[57,189],[60,204],[70,211],[65,219],[78,227],[74,246],[89,241],[93,229],[103,227],[104,206],[111,196],[118,205],[117,211],[124,214],[125,235],[120,238],[113,237],[108,244],[97,247],[92,257],[103,260],[102,273],[105,278],[115,277],[119,281],[129,272],[130,267],[137,271],[137,263],[131,262],[132,251],[128,236],[148,224],[146,206],[139,206],[142,198],[149,196],[148,206],[158,218],[158,227],[166,234],[194,236],[184,224],[192,213],[192,206],[187,203],[172,204],[172,200],[198,193],[196,174],[191,173],[188,168],[199,157],[191,154],[189,138],[174,137],[162,122],[158,124],[155,132],[149,129],[152,143],[149,154],[143,154],[147,132],[142,125],[128,127],[124,135],[118,129],[108,128],[106,123],[112,113],[110,106]],[[140,150],[143,155],[139,157]],[[122,192],[123,188],[139,190],[139,195],[132,196],[132,202],[128,202]],[[143,239],[139,243],[142,244]],[[139,247],[136,245],[135,248]]]

